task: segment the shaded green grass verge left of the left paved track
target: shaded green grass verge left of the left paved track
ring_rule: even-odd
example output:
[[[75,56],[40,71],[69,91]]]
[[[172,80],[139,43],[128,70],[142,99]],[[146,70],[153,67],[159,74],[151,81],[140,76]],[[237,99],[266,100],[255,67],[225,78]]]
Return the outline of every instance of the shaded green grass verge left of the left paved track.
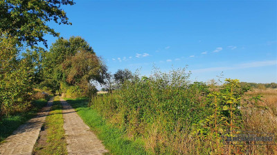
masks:
[[[17,127],[26,123],[30,118],[33,118],[37,115],[42,107],[44,107],[47,103],[46,99],[40,99],[37,101],[33,101],[33,108],[28,112],[21,112],[12,116],[7,116],[1,119],[0,121],[0,143],[3,142],[5,138],[10,136],[12,132],[14,132]]]

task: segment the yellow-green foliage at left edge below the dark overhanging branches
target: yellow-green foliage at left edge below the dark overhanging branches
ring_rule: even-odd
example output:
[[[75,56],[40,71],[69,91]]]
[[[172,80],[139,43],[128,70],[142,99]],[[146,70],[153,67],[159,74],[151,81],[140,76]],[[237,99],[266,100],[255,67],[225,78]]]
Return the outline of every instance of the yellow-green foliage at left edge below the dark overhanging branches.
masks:
[[[30,107],[34,70],[27,56],[19,59],[16,39],[0,34],[0,116]],[[1,118],[0,118],[1,119]]]

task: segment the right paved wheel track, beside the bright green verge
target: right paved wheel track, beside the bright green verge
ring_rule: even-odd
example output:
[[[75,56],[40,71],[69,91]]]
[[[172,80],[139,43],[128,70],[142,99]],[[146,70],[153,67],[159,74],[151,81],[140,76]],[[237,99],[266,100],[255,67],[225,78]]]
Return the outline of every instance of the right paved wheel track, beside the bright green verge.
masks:
[[[104,154],[108,152],[71,105],[64,99],[60,99],[60,101],[63,106],[62,114],[68,154]]]

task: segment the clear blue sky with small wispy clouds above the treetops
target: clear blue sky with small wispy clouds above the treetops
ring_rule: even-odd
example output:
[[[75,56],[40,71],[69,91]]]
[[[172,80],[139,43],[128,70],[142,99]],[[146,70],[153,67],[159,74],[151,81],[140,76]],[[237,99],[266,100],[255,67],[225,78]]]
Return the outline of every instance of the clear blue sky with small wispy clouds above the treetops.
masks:
[[[109,71],[149,75],[184,68],[191,80],[224,78],[277,83],[276,1],[75,1],[63,7],[73,25],[49,25],[81,36]],[[51,45],[56,38],[47,36]]]

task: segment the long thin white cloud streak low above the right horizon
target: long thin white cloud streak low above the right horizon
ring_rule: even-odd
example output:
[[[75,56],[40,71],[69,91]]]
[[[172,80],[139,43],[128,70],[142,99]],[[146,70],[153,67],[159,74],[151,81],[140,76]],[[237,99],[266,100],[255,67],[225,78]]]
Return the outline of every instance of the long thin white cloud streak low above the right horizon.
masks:
[[[217,67],[217,68],[203,68],[198,70],[192,70],[192,72],[215,72],[215,71],[224,71],[224,70],[240,70],[244,68],[258,68],[270,65],[277,65],[277,60],[273,61],[255,61],[252,63],[240,63],[237,65],[233,65],[232,67]]]

